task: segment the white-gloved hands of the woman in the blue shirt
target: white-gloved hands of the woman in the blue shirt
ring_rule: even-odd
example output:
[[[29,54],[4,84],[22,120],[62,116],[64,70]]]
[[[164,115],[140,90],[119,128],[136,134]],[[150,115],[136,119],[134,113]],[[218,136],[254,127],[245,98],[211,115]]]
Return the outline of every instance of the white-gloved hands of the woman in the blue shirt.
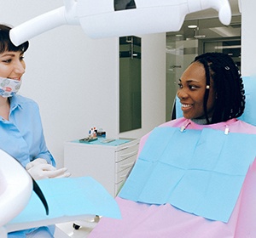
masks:
[[[26,165],[26,170],[35,180],[44,178],[67,178],[70,176],[66,167],[56,169],[41,158],[29,162]]]

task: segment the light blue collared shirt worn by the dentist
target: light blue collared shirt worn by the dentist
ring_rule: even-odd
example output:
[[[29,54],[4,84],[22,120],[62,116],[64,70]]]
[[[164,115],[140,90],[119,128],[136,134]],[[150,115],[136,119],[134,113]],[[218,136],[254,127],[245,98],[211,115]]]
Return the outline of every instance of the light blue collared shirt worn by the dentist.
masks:
[[[55,159],[45,144],[37,103],[20,95],[10,97],[9,102],[9,121],[0,116],[0,149],[15,157],[23,167],[37,158],[55,166]],[[10,233],[9,237],[26,237],[32,230]]]

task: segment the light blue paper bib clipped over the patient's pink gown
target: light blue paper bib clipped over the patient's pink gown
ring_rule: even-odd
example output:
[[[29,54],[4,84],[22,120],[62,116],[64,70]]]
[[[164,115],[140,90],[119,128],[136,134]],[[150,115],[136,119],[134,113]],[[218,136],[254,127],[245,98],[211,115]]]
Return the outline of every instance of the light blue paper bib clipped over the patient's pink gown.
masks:
[[[119,196],[228,222],[255,144],[254,134],[156,127]]]

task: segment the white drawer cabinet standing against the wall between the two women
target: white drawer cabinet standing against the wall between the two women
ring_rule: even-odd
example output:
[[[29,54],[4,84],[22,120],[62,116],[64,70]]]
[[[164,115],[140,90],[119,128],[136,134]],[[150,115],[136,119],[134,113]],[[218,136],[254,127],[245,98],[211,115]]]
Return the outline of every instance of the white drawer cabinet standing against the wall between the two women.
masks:
[[[115,196],[137,159],[139,139],[128,140],[119,145],[65,142],[64,167],[73,177],[95,178]]]

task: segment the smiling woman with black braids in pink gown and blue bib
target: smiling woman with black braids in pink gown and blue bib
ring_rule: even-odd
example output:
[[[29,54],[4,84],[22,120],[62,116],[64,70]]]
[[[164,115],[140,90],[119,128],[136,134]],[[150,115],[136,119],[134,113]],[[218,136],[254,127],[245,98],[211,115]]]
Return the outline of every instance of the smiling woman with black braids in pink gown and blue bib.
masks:
[[[141,139],[116,197],[122,219],[102,218],[90,238],[256,237],[256,127],[240,71],[226,54],[201,54],[183,72],[183,117]]]

